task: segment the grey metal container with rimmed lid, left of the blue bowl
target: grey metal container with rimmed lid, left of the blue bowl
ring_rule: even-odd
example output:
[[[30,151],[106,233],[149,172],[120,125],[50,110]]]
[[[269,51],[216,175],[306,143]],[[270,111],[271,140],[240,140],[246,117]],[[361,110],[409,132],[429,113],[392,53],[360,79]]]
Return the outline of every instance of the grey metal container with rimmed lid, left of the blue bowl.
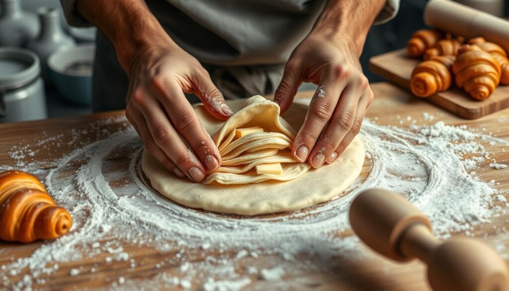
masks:
[[[0,123],[47,118],[40,74],[34,52],[0,47]]]

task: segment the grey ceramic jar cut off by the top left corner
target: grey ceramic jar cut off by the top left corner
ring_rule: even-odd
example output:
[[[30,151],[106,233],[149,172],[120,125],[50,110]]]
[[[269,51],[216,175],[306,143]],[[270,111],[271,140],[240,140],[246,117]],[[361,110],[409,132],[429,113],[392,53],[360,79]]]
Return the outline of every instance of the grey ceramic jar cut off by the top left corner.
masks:
[[[21,10],[20,0],[0,0],[0,46],[25,46],[39,32],[32,13]]]

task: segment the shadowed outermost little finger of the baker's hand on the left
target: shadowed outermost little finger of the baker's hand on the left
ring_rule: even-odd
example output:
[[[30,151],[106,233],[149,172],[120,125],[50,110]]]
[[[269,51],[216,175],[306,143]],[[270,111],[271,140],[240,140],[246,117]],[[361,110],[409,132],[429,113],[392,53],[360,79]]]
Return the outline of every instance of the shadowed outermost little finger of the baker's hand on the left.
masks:
[[[127,112],[129,112],[129,114]],[[145,149],[152,153],[156,160],[159,161],[159,163],[161,163],[161,165],[163,165],[170,173],[174,173],[179,178],[185,177],[184,173],[154,142],[152,135],[150,134],[150,130],[146,125],[147,121],[143,117],[142,113],[139,112],[137,108],[133,107],[131,110],[126,110],[126,116],[129,116],[128,119],[134,127],[134,130],[136,130],[136,133],[138,133],[139,137],[142,139]]]

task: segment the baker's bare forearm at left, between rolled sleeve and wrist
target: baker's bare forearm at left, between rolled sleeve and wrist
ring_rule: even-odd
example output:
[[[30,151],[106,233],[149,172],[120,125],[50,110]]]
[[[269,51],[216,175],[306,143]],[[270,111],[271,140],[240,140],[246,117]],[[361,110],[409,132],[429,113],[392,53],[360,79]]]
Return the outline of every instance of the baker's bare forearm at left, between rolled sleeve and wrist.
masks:
[[[106,35],[126,71],[136,52],[146,45],[158,41],[174,44],[142,0],[78,0],[76,8]]]

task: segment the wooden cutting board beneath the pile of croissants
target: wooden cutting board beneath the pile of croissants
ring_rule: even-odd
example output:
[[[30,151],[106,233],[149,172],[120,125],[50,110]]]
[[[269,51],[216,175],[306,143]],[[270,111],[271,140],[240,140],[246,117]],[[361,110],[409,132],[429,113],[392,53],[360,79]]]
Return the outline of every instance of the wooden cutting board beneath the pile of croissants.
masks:
[[[390,82],[410,90],[410,75],[420,60],[407,57],[398,49],[370,59],[370,70]],[[418,98],[418,97],[416,97]],[[427,98],[439,107],[466,119],[477,119],[509,107],[509,86],[498,86],[486,100],[477,101],[453,86]]]

